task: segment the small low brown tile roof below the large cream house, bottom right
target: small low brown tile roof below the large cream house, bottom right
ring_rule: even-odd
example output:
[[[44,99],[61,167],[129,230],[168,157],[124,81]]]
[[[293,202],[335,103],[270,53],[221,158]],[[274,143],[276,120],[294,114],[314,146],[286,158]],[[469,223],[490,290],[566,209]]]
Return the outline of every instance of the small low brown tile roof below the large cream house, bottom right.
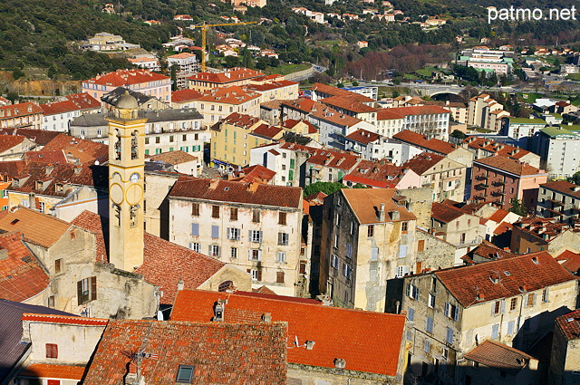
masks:
[[[465,358],[510,373],[525,369],[530,360],[535,360],[534,357],[523,351],[492,341],[486,341],[476,346],[465,355]]]

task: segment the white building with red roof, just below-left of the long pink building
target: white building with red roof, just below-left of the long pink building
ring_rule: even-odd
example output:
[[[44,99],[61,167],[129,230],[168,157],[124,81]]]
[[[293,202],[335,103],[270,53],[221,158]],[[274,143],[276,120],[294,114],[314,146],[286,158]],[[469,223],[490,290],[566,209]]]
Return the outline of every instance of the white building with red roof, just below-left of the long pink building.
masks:
[[[40,107],[44,115],[43,130],[69,132],[71,120],[85,113],[101,111],[101,102],[82,92],[41,104]]]

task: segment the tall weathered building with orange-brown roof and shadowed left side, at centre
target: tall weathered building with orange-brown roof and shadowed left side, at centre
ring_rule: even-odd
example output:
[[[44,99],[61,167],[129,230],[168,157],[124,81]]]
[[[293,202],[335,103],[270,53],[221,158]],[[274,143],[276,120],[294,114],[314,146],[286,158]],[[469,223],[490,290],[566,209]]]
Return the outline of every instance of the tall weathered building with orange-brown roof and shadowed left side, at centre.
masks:
[[[388,279],[409,273],[416,217],[393,188],[324,198],[319,289],[334,306],[383,312]]]

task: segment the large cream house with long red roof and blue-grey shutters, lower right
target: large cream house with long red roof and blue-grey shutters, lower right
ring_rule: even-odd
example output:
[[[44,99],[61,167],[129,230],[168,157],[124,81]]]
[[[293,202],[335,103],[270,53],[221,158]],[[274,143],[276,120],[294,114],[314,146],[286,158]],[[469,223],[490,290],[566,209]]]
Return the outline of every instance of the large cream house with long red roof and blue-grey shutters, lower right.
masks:
[[[575,308],[577,282],[546,251],[406,277],[411,368],[459,382],[461,359],[483,342],[529,351]]]

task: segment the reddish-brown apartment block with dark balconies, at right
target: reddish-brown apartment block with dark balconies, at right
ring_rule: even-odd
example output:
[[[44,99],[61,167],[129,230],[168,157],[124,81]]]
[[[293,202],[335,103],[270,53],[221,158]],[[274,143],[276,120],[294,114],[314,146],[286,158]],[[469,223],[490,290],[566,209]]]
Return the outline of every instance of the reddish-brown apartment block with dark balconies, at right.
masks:
[[[478,159],[473,161],[471,197],[505,209],[517,198],[529,210],[536,207],[537,189],[546,181],[546,171],[517,159],[501,155]]]

